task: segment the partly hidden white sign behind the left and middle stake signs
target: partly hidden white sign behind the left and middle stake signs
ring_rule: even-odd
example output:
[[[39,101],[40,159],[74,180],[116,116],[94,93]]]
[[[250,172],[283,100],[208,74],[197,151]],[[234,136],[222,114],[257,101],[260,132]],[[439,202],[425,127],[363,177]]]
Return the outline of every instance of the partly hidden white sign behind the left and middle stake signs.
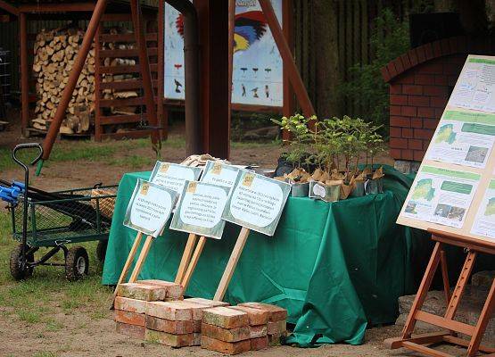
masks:
[[[200,178],[202,169],[198,167],[184,166],[170,162],[156,162],[150,181],[182,193],[186,180],[195,181]]]

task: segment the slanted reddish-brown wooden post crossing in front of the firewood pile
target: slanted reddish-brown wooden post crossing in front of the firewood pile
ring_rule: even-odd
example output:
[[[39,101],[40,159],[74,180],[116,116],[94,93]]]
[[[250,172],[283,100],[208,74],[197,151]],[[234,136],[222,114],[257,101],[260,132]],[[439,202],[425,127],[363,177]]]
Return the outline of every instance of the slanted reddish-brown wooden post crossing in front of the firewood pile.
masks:
[[[96,30],[102,20],[103,13],[105,12],[107,5],[107,0],[98,0],[95,5],[95,11],[91,16],[91,20],[87,25],[86,33],[84,34],[82,44],[79,48],[78,54],[72,65],[72,70],[70,71],[69,81],[67,85],[63,88],[62,97],[60,103],[57,107],[57,111],[54,115],[54,120],[50,124],[50,129],[46,134],[45,140],[43,141],[43,160],[47,160],[52,152],[52,147],[54,146],[55,138],[58,135],[59,129],[62,125],[62,120],[65,118],[65,111],[72,97],[72,92],[78,83],[79,75],[82,71],[84,63],[86,62],[87,54],[91,48],[91,44],[95,38]]]

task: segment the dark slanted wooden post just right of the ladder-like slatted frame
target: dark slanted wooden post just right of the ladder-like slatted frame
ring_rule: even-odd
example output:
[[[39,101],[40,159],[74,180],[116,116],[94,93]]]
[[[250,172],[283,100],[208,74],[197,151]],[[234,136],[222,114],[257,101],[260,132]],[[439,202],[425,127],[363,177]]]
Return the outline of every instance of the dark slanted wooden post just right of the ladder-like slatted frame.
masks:
[[[141,6],[138,0],[130,1],[130,9],[132,13],[132,24],[136,37],[136,46],[139,54],[139,69],[141,78],[143,79],[144,100],[146,103],[146,116],[148,125],[154,127],[152,133],[153,148],[158,153],[161,147],[160,129],[158,129],[158,117],[156,116],[156,106],[154,103],[152,72],[150,70],[150,61],[148,58],[148,46],[144,36],[143,16],[141,14]]]

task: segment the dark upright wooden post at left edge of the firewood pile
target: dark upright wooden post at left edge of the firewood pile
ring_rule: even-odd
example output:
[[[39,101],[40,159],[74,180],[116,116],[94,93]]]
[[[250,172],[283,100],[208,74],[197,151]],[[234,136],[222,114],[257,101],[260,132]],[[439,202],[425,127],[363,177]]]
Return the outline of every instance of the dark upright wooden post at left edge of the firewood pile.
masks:
[[[19,35],[21,43],[21,133],[26,136],[29,125],[29,64],[28,64],[28,23],[26,13],[19,15]]]

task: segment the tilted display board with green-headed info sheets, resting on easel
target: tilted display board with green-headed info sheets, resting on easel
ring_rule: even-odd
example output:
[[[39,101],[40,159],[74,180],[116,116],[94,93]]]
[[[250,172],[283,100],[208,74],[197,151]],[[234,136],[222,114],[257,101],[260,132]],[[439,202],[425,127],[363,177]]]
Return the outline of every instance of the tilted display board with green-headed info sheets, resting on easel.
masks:
[[[495,57],[469,55],[398,223],[495,245]]]

